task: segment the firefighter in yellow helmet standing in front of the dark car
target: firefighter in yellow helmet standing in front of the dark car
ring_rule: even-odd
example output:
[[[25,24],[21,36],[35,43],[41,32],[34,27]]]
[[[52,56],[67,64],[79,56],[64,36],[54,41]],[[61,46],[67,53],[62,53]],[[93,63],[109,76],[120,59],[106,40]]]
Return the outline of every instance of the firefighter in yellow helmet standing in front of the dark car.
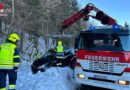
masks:
[[[62,46],[62,42],[58,41],[58,46],[55,49],[56,51],[56,59],[57,59],[57,66],[62,66],[62,61],[64,57],[64,47]]]

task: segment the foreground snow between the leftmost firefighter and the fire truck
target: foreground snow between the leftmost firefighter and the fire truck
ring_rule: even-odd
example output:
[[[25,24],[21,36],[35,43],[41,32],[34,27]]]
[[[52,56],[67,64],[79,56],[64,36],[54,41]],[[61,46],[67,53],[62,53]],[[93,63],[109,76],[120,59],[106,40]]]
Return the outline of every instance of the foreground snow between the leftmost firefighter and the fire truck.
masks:
[[[33,75],[31,69],[18,71],[16,90],[75,90],[73,71],[69,67],[49,68]]]

